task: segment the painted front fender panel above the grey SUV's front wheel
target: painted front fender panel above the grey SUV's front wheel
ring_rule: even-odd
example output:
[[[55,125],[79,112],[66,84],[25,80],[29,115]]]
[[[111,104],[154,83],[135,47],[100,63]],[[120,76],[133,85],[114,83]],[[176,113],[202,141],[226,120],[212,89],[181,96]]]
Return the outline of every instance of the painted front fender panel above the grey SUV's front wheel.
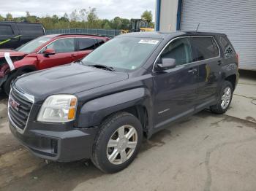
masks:
[[[109,114],[127,109],[131,106],[146,106],[148,111],[152,106],[148,90],[140,87],[132,90],[122,91],[91,100],[80,109],[78,127],[99,126],[102,120]],[[151,112],[148,118],[151,119]]]

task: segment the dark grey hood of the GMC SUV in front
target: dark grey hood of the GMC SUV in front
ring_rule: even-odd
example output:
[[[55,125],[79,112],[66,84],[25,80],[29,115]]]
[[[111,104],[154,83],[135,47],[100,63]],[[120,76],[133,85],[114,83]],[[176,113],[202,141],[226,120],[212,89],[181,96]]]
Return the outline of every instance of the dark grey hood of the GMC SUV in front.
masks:
[[[15,80],[15,88],[34,95],[37,102],[49,95],[75,94],[127,78],[127,73],[105,71],[79,63],[70,63],[53,69],[24,74]]]

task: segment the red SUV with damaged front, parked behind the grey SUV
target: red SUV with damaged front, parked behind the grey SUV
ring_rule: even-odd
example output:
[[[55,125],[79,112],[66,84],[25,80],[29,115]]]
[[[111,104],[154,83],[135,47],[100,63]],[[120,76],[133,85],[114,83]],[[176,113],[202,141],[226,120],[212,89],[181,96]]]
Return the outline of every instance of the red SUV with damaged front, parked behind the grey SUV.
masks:
[[[53,34],[40,36],[16,50],[0,50],[0,87],[9,94],[16,77],[78,61],[108,40],[103,36]]]

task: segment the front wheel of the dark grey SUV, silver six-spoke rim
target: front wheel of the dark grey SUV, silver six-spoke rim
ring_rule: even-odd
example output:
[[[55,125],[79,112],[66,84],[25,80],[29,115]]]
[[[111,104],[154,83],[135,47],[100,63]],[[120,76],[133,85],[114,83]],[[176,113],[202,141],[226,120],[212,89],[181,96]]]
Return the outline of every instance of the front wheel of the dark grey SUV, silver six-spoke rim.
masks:
[[[123,136],[119,132],[124,132]],[[127,112],[113,114],[100,125],[91,160],[105,173],[121,171],[135,159],[142,139],[143,128],[134,115]]]

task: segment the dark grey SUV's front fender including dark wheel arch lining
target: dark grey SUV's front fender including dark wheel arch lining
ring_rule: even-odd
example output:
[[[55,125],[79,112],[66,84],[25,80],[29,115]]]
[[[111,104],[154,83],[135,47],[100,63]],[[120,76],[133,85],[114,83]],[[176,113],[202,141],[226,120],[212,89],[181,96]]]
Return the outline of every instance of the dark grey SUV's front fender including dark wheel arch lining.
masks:
[[[118,112],[128,112],[140,120],[143,131],[151,127],[151,96],[140,87],[88,101],[80,108],[78,127],[98,127],[103,120]]]

